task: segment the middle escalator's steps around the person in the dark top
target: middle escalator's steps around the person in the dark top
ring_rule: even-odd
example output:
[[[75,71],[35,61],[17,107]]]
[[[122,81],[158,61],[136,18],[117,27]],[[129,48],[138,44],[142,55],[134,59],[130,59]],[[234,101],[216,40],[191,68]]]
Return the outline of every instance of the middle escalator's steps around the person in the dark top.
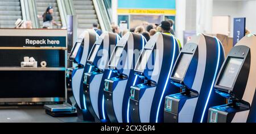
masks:
[[[54,10],[53,14],[53,20],[55,20],[56,23],[61,24],[61,18],[60,18],[60,12],[59,7],[57,5],[57,0],[36,0],[36,11],[39,15],[43,15],[46,11],[48,6],[52,6]],[[40,28],[43,27],[43,18],[39,19]],[[60,28],[58,26],[54,26],[53,28]]]

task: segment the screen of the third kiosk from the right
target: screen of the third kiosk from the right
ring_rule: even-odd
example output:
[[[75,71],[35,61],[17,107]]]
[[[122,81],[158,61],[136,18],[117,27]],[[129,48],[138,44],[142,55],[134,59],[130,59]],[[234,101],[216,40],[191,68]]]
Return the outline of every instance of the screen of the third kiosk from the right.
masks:
[[[147,61],[150,58],[151,52],[151,49],[145,49],[142,52],[141,58],[139,58],[139,63],[137,64],[135,70],[138,70],[139,72],[144,72],[144,69],[146,69]]]

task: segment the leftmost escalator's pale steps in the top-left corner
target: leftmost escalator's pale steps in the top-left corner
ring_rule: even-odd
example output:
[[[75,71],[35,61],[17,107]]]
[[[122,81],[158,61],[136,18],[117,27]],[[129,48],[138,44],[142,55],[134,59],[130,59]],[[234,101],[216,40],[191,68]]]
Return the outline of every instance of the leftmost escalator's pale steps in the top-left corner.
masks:
[[[0,0],[0,28],[14,28],[19,18],[22,19],[19,0]]]

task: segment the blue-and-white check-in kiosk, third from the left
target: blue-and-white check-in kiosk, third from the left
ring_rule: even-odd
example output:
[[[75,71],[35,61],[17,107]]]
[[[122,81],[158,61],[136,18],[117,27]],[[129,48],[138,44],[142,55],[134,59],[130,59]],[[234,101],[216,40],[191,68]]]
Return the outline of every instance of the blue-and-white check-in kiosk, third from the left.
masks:
[[[129,122],[130,86],[135,84],[134,65],[146,44],[142,35],[128,32],[118,42],[109,61],[110,72],[105,79],[104,100],[110,122]]]

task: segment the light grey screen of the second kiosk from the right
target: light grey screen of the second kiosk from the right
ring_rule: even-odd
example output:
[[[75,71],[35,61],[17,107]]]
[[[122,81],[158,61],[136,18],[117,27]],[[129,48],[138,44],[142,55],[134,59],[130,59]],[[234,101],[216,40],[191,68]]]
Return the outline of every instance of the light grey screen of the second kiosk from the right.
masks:
[[[180,78],[183,79],[185,76],[185,73],[188,69],[189,63],[191,62],[192,59],[192,54],[188,54],[188,53],[183,53],[179,64],[177,64],[176,70],[175,70],[175,74],[174,77],[175,78]]]

